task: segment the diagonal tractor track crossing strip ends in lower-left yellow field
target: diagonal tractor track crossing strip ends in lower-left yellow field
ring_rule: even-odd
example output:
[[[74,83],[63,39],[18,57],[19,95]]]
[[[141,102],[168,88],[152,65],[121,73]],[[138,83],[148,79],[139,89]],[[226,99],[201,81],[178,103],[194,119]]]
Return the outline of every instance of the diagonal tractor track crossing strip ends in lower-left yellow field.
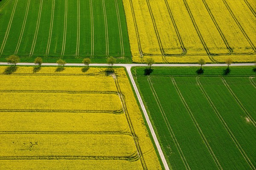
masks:
[[[125,105],[125,99],[124,99],[124,97],[122,96],[122,92],[121,92],[121,89],[120,89],[118,80],[117,80],[117,78],[116,78],[115,75],[113,75],[113,79],[114,79],[114,82],[115,82],[115,85],[116,85],[116,89],[117,89],[117,92],[118,92],[119,99],[121,100],[121,103],[122,103],[122,111],[123,111],[123,113],[124,113],[125,116],[126,116],[126,120],[127,120],[127,122],[128,122],[128,126],[130,127],[131,134],[132,134],[132,137],[133,137],[133,139],[134,139],[134,144],[135,144],[135,146],[136,146],[136,148],[137,148],[137,155],[138,155],[139,158],[140,158],[140,161],[141,161],[141,164],[142,164],[142,166],[143,166],[143,169],[144,169],[144,170],[147,170],[148,168],[147,168],[147,166],[146,166],[146,164],[145,164],[145,160],[144,160],[144,157],[143,157],[143,153],[142,153],[142,151],[141,151],[141,149],[140,149],[140,144],[139,144],[139,142],[138,142],[138,138],[137,138],[136,133],[135,133],[135,131],[134,131],[134,127],[133,127],[133,125],[132,125],[131,118],[130,118],[130,116],[129,116],[128,110],[127,110],[126,105]]]

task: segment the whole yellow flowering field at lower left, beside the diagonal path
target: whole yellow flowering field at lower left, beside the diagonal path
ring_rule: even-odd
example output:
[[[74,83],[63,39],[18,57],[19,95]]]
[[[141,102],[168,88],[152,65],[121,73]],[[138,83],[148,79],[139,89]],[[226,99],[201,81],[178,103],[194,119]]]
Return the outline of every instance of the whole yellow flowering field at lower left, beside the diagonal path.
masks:
[[[0,167],[161,169],[123,68],[0,67]]]

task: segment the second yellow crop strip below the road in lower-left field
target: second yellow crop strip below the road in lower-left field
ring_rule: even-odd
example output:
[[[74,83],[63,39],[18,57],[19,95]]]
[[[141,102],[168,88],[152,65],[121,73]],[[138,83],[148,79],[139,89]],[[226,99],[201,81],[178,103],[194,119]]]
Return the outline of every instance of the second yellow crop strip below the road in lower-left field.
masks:
[[[78,94],[77,94],[78,93]],[[44,112],[110,112],[121,113],[117,94],[93,94],[59,91],[1,92],[1,110]]]

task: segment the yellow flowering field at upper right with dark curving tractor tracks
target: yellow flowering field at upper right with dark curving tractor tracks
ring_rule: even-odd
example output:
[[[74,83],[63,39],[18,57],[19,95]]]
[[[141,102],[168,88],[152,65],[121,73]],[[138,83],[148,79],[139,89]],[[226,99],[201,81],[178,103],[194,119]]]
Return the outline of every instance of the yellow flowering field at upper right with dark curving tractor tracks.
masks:
[[[134,62],[254,62],[252,0],[123,0]]]

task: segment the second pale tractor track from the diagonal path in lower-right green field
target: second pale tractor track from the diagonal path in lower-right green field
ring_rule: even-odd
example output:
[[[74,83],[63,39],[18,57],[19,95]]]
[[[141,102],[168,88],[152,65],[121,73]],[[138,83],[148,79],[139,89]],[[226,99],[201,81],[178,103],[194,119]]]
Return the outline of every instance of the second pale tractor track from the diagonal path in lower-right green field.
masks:
[[[183,105],[185,106],[187,112],[189,113],[189,116],[191,117],[191,119],[192,119],[192,121],[193,121],[195,127],[197,128],[197,130],[198,130],[198,132],[199,132],[199,134],[200,134],[200,136],[201,136],[201,139],[203,139],[204,144],[207,146],[207,149],[208,149],[209,153],[211,154],[212,159],[214,159],[215,164],[217,165],[218,169],[223,170],[223,168],[221,167],[221,164],[219,163],[218,159],[216,158],[216,156],[215,156],[215,154],[214,154],[214,152],[213,152],[213,150],[212,150],[210,144],[208,143],[206,137],[204,136],[204,133],[203,133],[203,131],[201,130],[201,127],[199,126],[199,124],[198,124],[198,122],[196,121],[196,119],[195,119],[195,117],[194,117],[192,111],[190,110],[189,105],[186,103],[186,100],[185,100],[184,97],[182,96],[182,94],[181,94],[181,92],[180,92],[180,89],[178,88],[175,79],[174,79],[173,77],[171,77],[171,80],[172,80],[172,84],[175,86],[175,89],[176,89],[176,91],[177,91],[177,93],[178,93],[178,95],[179,95],[179,97],[180,97],[180,99],[181,99]]]

